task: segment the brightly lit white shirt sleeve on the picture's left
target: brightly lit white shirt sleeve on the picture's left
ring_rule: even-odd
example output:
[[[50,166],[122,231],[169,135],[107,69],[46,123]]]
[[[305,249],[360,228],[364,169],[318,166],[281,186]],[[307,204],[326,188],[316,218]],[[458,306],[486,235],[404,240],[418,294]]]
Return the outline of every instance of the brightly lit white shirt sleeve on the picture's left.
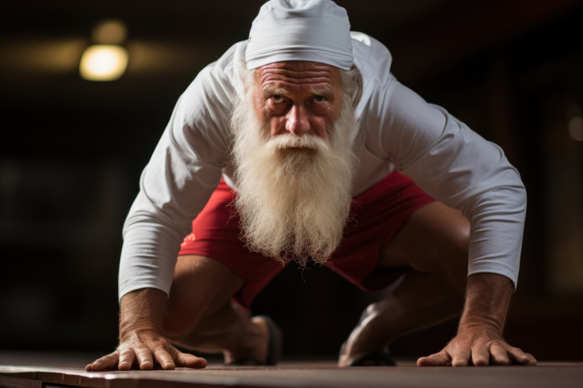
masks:
[[[204,69],[180,97],[123,226],[119,298],[169,293],[182,239],[219,183],[228,150],[228,82]]]

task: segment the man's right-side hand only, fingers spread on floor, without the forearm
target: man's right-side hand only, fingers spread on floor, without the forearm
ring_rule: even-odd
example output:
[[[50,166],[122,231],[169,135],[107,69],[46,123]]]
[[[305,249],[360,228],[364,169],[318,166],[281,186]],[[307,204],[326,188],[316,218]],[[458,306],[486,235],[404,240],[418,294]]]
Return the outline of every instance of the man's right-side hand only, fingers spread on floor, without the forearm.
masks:
[[[514,348],[495,330],[476,326],[459,330],[441,352],[421,357],[418,366],[536,365],[532,354]]]

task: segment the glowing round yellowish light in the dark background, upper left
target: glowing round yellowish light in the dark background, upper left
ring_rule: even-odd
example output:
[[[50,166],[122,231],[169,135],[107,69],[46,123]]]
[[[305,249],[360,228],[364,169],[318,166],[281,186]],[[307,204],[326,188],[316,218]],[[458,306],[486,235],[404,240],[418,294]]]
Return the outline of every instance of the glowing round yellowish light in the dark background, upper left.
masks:
[[[81,56],[79,73],[85,80],[118,80],[128,67],[128,51],[117,45],[89,46]]]

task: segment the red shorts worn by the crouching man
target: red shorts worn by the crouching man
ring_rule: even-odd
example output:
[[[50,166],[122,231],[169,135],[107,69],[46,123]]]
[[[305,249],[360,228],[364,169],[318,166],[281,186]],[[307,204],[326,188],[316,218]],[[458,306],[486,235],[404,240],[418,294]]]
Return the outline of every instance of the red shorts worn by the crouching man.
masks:
[[[200,215],[192,223],[179,254],[208,256],[223,263],[245,280],[234,296],[250,307],[255,296],[283,269],[273,258],[250,252],[239,239],[239,218],[231,213],[235,193],[221,180]],[[403,271],[375,271],[381,246],[388,243],[410,215],[433,198],[396,171],[353,200],[354,220],[344,229],[340,249],[329,263],[332,271],[366,291],[377,291]]]

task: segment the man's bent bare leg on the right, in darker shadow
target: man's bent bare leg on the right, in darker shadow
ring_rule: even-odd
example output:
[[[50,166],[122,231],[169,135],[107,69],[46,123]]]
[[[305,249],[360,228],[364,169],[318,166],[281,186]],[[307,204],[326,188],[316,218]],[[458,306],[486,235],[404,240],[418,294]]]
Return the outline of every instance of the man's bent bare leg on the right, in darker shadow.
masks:
[[[460,212],[434,202],[414,213],[381,252],[379,266],[409,266],[399,287],[370,304],[341,350],[339,365],[410,332],[439,324],[462,309],[469,224]]]

